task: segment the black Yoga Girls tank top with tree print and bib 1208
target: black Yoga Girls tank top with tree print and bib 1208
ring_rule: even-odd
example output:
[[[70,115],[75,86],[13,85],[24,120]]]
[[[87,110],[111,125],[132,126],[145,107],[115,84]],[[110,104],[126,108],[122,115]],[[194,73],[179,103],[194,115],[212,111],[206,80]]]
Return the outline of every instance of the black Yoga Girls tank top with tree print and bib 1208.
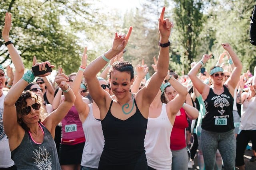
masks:
[[[234,98],[226,86],[220,95],[210,92],[204,100],[206,113],[202,119],[202,129],[212,132],[228,132],[234,129],[233,104]]]

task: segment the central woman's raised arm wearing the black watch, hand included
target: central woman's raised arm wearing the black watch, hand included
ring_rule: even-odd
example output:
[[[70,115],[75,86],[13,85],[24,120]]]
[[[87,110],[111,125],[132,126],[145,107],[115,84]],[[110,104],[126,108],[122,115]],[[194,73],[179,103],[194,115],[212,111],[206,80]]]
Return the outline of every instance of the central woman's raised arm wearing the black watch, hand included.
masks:
[[[169,67],[169,37],[171,33],[171,28],[173,27],[173,23],[170,22],[167,18],[164,19],[164,11],[165,7],[163,7],[160,18],[158,20],[158,31],[160,33],[160,51],[158,55],[156,72],[153,74],[147,86],[139,91],[140,93],[142,93],[143,96],[143,105],[150,105],[151,102],[154,100],[167,74]]]

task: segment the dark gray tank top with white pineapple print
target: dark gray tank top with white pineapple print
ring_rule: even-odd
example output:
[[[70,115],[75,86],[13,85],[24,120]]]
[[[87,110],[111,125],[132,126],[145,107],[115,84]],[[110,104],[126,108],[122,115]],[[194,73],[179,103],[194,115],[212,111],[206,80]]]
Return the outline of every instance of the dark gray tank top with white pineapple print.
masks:
[[[41,144],[35,143],[25,131],[22,142],[11,152],[17,170],[61,170],[54,139],[41,123],[40,128],[44,133]]]

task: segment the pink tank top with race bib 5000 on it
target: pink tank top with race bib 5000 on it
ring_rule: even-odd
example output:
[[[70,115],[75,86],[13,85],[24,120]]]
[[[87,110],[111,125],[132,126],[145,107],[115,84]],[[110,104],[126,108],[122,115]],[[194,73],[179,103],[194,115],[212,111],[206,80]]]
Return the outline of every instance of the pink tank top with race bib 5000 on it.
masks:
[[[76,145],[85,142],[82,122],[79,119],[78,111],[72,106],[68,114],[62,119],[61,144]]]

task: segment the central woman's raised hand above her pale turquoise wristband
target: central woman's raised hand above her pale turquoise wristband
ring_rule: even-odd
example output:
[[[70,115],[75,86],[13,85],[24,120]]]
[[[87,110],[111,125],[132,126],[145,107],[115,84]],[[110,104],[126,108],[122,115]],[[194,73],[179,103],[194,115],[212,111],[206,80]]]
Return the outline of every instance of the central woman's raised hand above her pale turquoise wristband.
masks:
[[[127,35],[125,33],[115,33],[115,38],[112,44],[112,50],[118,53],[122,52],[126,47],[130,35],[132,33],[132,27],[129,28]]]

